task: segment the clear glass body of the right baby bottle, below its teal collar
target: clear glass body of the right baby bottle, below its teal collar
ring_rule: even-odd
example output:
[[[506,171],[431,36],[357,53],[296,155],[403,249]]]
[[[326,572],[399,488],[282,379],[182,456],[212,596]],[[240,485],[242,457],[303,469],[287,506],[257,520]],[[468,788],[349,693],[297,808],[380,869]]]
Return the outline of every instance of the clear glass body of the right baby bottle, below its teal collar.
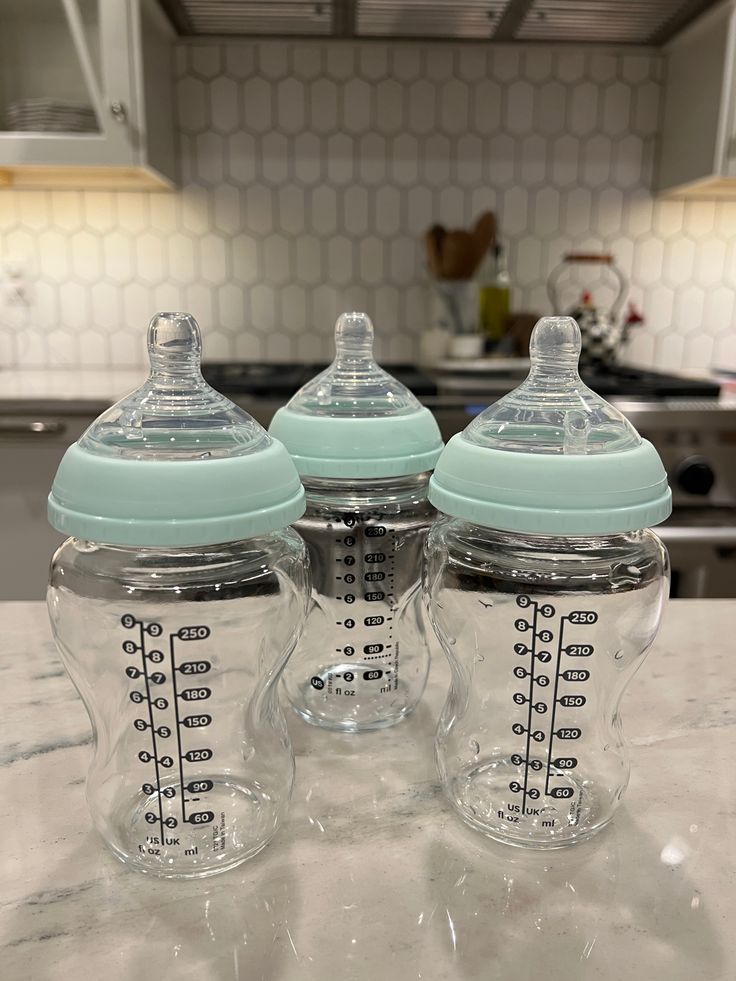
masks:
[[[435,743],[451,803],[516,845],[598,831],[629,779],[619,703],[659,627],[661,542],[651,531],[531,537],[443,518],[426,554],[452,670]]]

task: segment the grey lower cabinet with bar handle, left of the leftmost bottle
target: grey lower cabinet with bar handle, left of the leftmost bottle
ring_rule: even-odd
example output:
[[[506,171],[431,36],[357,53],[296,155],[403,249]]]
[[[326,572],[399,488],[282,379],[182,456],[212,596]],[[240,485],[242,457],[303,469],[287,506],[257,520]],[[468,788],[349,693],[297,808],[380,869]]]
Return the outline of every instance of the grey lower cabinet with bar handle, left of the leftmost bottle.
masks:
[[[49,560],[63,540],[46,520],[46,498],[64,452],[87,415],[0,414],[0,599],[42,599]]]

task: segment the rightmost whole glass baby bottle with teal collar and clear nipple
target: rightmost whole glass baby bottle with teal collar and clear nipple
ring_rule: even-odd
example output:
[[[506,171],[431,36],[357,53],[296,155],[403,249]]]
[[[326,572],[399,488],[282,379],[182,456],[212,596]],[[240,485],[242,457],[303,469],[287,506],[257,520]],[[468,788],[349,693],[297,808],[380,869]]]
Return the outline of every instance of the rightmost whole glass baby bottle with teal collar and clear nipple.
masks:
[[[451,667],[439,775],[469,825],[556,847],[610,821],[629,779],[619,703],[659,627],[671,510],[654,447],[578,375],[568,317],[454,436],[429,499],[425,590]]]

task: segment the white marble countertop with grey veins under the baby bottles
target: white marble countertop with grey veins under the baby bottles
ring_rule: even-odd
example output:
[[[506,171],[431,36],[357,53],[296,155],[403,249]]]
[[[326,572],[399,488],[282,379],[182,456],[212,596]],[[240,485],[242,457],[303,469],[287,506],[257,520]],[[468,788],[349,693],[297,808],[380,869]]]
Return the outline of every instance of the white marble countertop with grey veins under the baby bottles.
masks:
[[[199,882],[126,870],[90,830],[86,715],[44,607],[2,604],[3,981],[732,981],[736,603],[676,601],[624,702],[633,776],[612,826],[529,852],[465,829],[432,731],[291,723],[290,819]]]

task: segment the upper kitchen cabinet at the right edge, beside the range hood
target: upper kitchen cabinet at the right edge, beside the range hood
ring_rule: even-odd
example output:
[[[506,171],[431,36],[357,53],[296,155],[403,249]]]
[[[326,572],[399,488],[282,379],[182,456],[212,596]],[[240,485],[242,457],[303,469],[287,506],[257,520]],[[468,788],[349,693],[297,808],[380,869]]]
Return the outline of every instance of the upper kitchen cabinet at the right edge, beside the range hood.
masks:
[[[736,4],[716,7],[667,47],[655,189],[736,197]]]

